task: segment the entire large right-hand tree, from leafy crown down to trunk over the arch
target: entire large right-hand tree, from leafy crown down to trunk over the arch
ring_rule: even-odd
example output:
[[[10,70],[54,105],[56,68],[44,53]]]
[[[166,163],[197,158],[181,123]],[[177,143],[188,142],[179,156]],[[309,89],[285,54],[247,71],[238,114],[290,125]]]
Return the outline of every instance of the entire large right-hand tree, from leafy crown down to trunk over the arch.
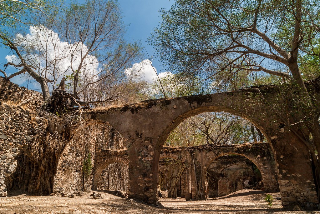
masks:
[[[305,78],[315,75],[301,73],[301,68],[309,67],[301,61],[305,57],[319,61],[319,3],[178,0],[171,9],[162,11],[162,23],[150,38],[168,69],[184,76],[223,80],[229,88],[241,88],[243,78],[276,76],[297,90],[291,102],[301,118],[290,114],[293,122],[288,123],[283,112],[275,114],[309,149],[318,198],[320,170],[315,150],[320,152],[319,107],[304,83]]]

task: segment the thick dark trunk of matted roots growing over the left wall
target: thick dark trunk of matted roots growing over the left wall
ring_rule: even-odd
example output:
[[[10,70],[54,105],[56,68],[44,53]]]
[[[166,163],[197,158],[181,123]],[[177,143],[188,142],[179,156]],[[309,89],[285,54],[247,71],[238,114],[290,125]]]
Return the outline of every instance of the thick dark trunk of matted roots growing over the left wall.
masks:
[[[64,85],[64,84],[63,84]],[[74,122],[69,117],[72,112],[67,105],[69,95],[63,87],[57,88],[45,109],[55,114],[44,115],[48,120],[46,131],[36,136],[29,144],[23,145],[17,158],[17,170],[14,174],[15,186],[33,195],[53,193],[54,177],[60,156],[72,138]],[[67,110],[68,109],[68,110]],[[66,113],[69,111],[69,113]],[[59,113],[63,117],[56,117]],[[72,115],[74,116],[74,115]]]

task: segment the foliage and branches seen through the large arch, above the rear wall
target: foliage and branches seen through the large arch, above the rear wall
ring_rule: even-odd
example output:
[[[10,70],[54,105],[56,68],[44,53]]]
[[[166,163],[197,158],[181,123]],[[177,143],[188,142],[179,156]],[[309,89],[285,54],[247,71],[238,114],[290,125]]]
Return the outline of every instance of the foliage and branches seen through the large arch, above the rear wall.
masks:
[[[254,131],[258,136],[257,130]],[[180,123],[169,135],[166,145],[185,147],[248,142],[253,142],[250,122],[225,112],[207,112]]]

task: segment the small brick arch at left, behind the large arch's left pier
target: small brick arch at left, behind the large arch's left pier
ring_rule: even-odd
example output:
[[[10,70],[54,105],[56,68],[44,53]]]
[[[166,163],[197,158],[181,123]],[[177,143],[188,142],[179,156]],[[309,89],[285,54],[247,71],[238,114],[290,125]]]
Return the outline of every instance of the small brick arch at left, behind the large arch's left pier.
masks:
[[[129,165],[129,160],[126,157],[103,157],[100,156],[102,160],[99,163],[94,164],[93,177],[92,177],[92,190],[98,189],[98,183],[101,177],[102,171],[110,164],[122,163]]]

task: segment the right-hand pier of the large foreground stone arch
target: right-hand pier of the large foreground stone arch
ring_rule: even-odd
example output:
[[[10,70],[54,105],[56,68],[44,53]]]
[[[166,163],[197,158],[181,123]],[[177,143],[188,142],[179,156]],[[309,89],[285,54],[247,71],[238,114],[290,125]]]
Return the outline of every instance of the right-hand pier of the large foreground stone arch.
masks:
[[[310,153],[307,147],[288,131],[284,136],[272,137],[282,205],[316,208],[317,195],[313,179]]]

